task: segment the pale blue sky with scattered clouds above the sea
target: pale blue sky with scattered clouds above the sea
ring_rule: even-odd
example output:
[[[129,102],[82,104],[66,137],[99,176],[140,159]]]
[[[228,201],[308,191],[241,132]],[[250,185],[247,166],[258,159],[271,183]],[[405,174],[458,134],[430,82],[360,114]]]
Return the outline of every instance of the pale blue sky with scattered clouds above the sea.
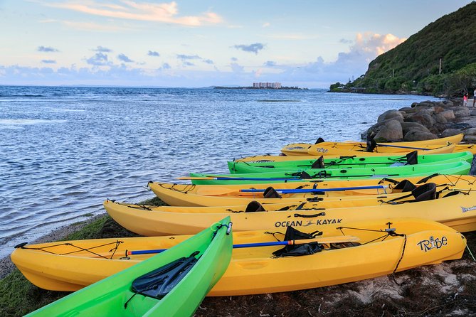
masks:
[[[0,85],[328,88],[470,2],[0,0]]]

